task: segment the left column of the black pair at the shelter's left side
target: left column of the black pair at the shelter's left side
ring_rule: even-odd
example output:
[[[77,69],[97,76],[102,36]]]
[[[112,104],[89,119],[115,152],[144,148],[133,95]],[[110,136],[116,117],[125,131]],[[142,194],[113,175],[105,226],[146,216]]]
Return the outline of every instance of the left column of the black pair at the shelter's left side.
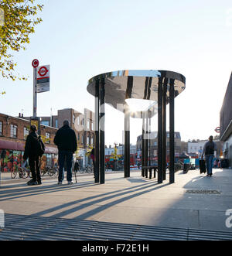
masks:
[[[99,183],[99,80],[95,83],[95,136],[94,136],[94,176],[95,183]]]

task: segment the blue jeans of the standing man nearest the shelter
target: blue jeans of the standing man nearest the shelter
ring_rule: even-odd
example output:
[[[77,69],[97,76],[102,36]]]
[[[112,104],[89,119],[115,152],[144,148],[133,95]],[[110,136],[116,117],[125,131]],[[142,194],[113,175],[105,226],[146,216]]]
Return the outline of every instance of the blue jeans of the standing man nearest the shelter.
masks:
[[[58,181],[63,182],[64,178],[64,164],[66,162],[67,169],[67,181],[72,181],[72,163],[73,163],[73,152],[70,151],[60,151],[58,154],[59,163],[59,176]]]

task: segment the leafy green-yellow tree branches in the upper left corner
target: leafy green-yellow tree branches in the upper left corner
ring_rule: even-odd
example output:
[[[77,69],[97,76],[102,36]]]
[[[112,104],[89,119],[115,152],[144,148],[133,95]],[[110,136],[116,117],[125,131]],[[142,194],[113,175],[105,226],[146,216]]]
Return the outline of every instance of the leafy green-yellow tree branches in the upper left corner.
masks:
[[[42,22],[36,17],[43,5],[35,5],[35,0],[0,0],[0,73],[2,77],[26,80],[15,73],[12,53],[26,49],[30,34]],[[3,92],[4,94],[5,92]]]

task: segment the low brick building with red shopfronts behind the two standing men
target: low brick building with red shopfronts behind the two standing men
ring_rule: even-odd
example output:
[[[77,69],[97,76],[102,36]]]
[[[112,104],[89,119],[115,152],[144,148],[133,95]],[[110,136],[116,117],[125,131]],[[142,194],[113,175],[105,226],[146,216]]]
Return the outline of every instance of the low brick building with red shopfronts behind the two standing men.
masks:
[[[10,172],[14,167],[22,165],[22,155],[26,136],[29,135],[30,121],[0,113],[0,156],[2,172]],[[46,165],[53,166],[57,161],[57,148],[53,143],[57,128],[40,125],[41,137],[45,142],[42,169]],[[13,161],[12,161],[13,160]]]

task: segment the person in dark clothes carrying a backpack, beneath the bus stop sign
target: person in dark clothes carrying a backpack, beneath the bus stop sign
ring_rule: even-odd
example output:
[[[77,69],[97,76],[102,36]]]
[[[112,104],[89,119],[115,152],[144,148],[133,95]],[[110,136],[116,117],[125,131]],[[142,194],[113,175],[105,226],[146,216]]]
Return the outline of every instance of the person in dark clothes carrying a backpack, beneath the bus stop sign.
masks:
[[[24,161],[29,159],[29,166],[32,172],[32,179],[27,183],[29,186],[42,184],[39,170],[39,157],[43,155],[44,151],[44,144],[40,136],[36,133],[36,126],[31,125],[23,154]]]

